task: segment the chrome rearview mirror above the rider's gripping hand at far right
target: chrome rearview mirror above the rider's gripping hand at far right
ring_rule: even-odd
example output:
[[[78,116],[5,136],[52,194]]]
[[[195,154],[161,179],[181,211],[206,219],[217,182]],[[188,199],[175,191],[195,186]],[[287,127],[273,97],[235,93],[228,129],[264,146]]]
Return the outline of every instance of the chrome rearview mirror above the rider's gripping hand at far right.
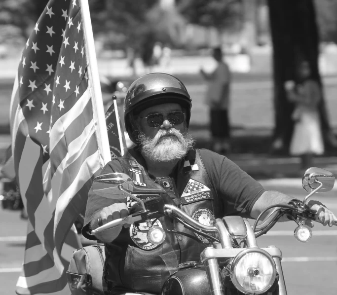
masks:
[[[333,189],[335,176],[328,170],[311,167],[304,172],[302,186],[307,192],[313,192],[320,185],[322,186],[316,192],[326,192]]]

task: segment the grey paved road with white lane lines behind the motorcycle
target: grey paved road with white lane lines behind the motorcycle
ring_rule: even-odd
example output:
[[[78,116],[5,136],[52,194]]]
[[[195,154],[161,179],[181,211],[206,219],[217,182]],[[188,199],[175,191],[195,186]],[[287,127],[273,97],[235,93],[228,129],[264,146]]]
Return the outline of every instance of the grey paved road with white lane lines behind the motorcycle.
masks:
[[[268,189],[280,190],[297,197],[304,196],[298,180],[261,181]],[[317,195],[337,212],[337,189]],[[0,209],[0,286],[1,295],[13,295],[24,251],[26,221],[17,212]],[[308,243],[298,242],[293,231],[296,224],[276,224],[272,231],[258,239],[261,247],[275,245],[283,253],[283,271],[289,295],[336,294],[337,227],[316,223]]]

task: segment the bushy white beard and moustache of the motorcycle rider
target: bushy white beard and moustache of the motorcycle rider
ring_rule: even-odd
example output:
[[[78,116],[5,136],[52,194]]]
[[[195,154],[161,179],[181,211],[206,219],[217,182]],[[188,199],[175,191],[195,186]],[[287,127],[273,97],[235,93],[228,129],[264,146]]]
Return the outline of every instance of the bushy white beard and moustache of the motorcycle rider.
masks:
[[[174,137],[165,136],[168,134],[172,134]],[[170,130],[161,129],[152,139],[140,132],[138,141],[142,152],[149,159],[161,162],[184,158],[187,151],[194,145],[194,140],[188,133],[183,135],[175,128]]]

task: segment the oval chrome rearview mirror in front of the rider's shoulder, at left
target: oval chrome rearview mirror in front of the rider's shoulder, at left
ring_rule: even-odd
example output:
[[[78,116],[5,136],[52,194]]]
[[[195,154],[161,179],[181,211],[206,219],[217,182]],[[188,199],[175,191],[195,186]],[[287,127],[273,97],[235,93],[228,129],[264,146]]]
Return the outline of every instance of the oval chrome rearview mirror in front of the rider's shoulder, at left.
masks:
[[[94,178],[92,188],[95,194],[115,200],[123,200],[127,197],[125,191],[133,191],[132,179],[124,173],[108,173]]]

